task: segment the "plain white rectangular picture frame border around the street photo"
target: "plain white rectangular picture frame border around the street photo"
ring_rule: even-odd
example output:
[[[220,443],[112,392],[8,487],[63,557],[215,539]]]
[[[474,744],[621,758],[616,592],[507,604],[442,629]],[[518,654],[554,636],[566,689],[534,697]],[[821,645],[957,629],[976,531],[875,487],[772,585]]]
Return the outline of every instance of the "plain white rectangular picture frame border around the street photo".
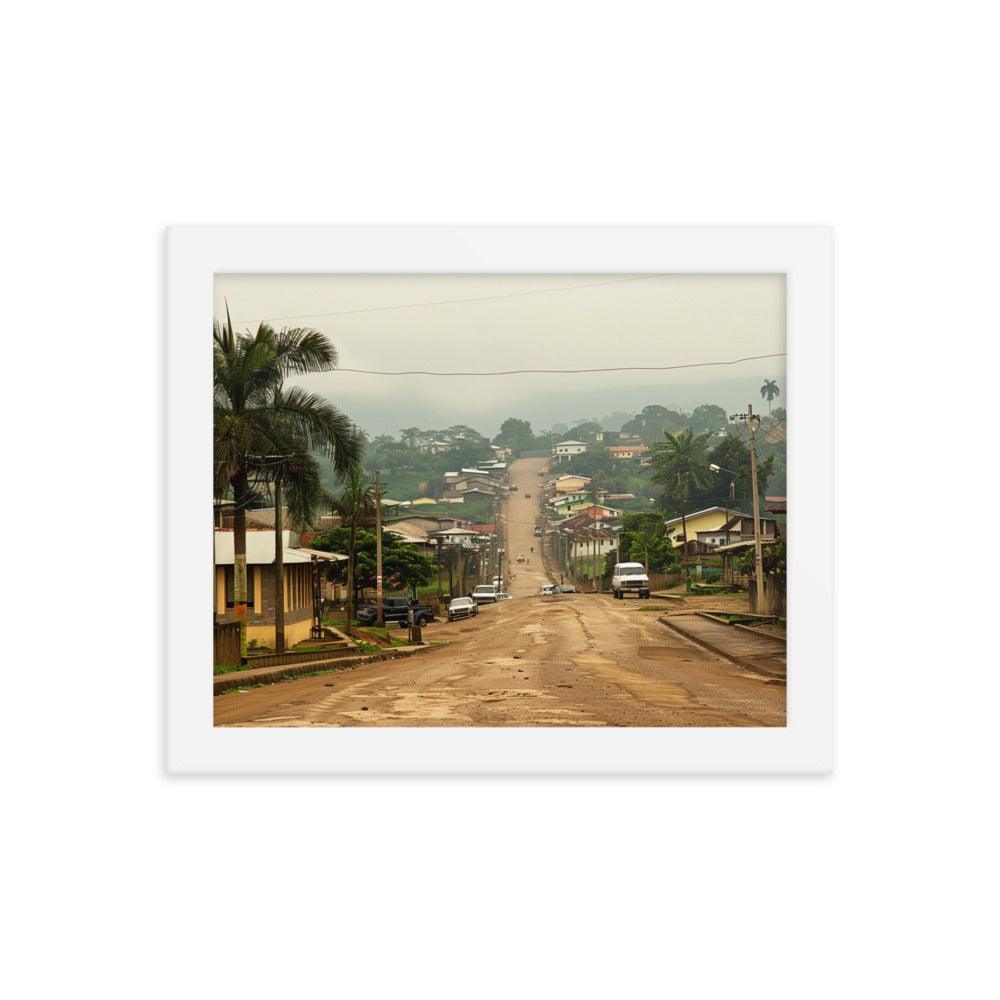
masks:
[[[784,273],[782,728],[225,728],[212,719],[217,273]],[[823,773],[833,767],[833,234],[827,227],[180,226],[167,231],[166,767],[192,773]]]

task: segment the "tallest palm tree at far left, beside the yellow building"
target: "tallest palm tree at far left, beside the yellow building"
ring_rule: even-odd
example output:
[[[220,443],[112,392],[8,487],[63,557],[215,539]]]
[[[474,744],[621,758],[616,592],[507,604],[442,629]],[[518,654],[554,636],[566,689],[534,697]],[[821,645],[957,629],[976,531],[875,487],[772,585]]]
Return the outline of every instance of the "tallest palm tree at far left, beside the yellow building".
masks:
[[[261,323],[256,334],[236,334],[227,305],[226,322],[213,323],[212,339],[215,489],[217,496],[233,493],[233,603],[245,653],[246,510],[253,484],[271,481],[274,463],[288,454],[314,450],[327,454],[342,475],[357,464],[358,442],[347,417],[322,397],[282,388],[288,375],[336,367],[337,351],[318,330],[275,333]]]

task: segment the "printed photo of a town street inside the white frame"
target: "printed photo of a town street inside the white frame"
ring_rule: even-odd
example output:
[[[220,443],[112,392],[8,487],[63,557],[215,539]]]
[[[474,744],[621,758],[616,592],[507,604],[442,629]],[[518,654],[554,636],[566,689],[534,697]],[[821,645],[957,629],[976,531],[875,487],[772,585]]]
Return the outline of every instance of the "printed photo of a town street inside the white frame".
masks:
[[[786,725],[783,274],[217,274],[211,320],[215,726]]]

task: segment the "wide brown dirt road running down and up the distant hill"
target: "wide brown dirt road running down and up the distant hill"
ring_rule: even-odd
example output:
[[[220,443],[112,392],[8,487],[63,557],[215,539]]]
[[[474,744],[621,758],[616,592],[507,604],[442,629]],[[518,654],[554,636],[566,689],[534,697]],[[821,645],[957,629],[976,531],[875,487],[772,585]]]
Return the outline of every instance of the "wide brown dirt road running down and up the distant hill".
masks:
[[[219,695],[216,725],[783,726],[783,685],[672,633],[655,600],[538,595],[545,464],[511,465],[513,600],[430,625],[425,639],[448,645],[409,659]]]

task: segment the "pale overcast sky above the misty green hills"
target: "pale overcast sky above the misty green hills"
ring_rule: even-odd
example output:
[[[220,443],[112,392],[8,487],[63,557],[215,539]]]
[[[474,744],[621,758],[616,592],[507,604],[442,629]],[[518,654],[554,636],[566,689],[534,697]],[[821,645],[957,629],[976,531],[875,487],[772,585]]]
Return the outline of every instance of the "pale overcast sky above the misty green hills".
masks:
[[[469,299],[478,301],[453,301]],[[218,275],[217,318],[225,300],[237,330],[261,320],[321,330],[343,368],[675,365],[785,350],[784,275]],[[784,358],[674,372],[389,378],[334,371],[297,381],[370,434],[466,423],[492,436],[508,416],[540,430],[649,403],[742,407],[760,402],[763,378],[778,379],[784,403]]]

